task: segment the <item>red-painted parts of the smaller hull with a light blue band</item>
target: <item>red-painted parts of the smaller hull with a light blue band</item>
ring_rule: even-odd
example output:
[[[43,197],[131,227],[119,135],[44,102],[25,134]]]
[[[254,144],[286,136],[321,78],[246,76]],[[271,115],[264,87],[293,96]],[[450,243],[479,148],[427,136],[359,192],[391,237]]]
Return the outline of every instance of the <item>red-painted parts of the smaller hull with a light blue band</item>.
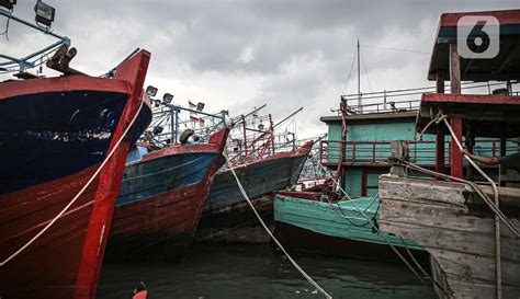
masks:
[[[112,223],[106,258],[109,261],[122,260],[168,260],[178,261],[185,248],[191,244],[194,231],[199,225],[204,203],[210,193],[210,186],[215,172],[221,165],[228,129],[216,133],[208,145],[174,146],[157,152],[149,153],[137,164],[146,166],[152,160],[182,156],[186,153],[211,153],[212,160],[208,168],[204,168],[203,179],[200,183],[181,187],[173,187],[150,197],[116,206]],[[173,157],[172,157],[173,158]],[[169,165],[163,163],[163,168]],[[171,165],[176,168],[177,165]],[[127,166],[128,168],[128,166]],[[182,172],[183,169],[179,168]],[[170,174],[163,173],[161,176]],[[177,173],[176,173],[177,174]],[[154,176],[147,172],[135,175],[139,181],[140,175]],[[125,175],[126,177],[126,175]],[[161,184],[176,185],[184,175],[172,181],[165,180]],[[185,179],[184,179],[185,180]],[[155,183],[156,181],[154,181]],[[149,187],[143,182],[133,182],[135,185]],[[183,185],[184,183],[180,183]],[[142,192],[135,189],[135,193]],[[124,191],[120,193],[122,199]],[[120,199],[117,203],[120,203]]]

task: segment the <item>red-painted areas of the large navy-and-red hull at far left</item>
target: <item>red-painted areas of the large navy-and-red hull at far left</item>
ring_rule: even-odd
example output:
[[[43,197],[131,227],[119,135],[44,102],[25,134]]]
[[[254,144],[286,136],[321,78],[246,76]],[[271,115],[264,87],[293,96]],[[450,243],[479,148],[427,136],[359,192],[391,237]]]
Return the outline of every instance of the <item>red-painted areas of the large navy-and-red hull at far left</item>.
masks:
[[[26,94],[37,96],[61,91],[66,96],[74,91],[86,91],[84,94],[88,94],[101,90],[126,94],[126,104],[105,149],[106,153],[113,150],[113,154],[101,172],[48,230],[9,261],[7,261],[9,256],[41,232],[72,200],[93,176],[100,163],[65,176],[0,194],[0,260],[7,261],[0,266],[1,298],[94,297],[112,212],[129,148],[128,138],[118,145],[117,141],[123,138],[123,133],[138,111],[149,57],[149,53],[140,51],[117,68],[114,80],[72,76],[9,82],[2,87],[5,89],[0,91],[0,102],[16,96],[16,92],[21,96]],[[42,123],[42,126],[45,126],[45,123]],[[98,138],[92,134],[86,136]],[[23,154],[29,150],[21,148],[20,152]],[[57,154],[59,156],[59,152]],[[75,159],[83,158],[78,154]],[[74,161],[64,158],[60,166],[74,164]],[[26,177],[27,182],[33,180],[31,174]],[[5,182],[5,185],[16,183]]]

